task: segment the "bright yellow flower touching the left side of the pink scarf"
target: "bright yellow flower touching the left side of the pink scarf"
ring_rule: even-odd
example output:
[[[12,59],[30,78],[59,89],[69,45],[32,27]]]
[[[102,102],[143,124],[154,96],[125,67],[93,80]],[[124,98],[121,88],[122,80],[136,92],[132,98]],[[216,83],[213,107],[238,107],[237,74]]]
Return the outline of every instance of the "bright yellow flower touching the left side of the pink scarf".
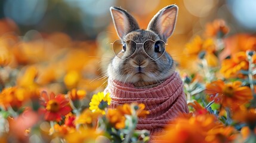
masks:
[[[105,114],[105,109],[110,105],[110,101],[109,93],[104,95],[103,92],[98,92],[98,94],[94,94],[91,98],[90,110],[92,112],[98,111]]]

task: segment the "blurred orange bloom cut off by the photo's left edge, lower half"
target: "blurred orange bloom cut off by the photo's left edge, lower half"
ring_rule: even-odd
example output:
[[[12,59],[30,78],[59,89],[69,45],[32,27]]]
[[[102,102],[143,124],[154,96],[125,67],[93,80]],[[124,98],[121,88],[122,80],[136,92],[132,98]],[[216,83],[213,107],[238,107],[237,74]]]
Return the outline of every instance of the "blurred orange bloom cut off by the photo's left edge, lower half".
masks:
[[[18,88],[17,86],[5,88],[0,93],[0,105],[5,109],[11,106],[14,110],[17,110],[28,98],[24,88]]]

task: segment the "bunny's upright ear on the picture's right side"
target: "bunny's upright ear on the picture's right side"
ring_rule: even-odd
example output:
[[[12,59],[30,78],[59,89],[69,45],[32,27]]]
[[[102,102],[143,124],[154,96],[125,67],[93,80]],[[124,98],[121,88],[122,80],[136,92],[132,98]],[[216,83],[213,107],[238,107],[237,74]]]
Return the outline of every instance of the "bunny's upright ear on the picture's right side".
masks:
[[[155,32],[161,36],[164,41],[166,41],[174,31],[177,14],[177,5],[169,5],[163,8],[149,22],[147,30]]]

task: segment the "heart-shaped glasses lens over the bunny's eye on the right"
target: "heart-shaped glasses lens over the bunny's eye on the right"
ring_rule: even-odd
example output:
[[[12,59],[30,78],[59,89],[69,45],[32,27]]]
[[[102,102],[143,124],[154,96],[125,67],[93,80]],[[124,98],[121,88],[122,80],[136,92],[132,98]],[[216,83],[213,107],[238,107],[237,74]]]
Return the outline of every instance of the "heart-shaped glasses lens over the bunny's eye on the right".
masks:
[[[164,41],[148,40],[144,42],[143,48],[150,58],[152,58],[153,60],[158,60],[164,54],[166,47]]]

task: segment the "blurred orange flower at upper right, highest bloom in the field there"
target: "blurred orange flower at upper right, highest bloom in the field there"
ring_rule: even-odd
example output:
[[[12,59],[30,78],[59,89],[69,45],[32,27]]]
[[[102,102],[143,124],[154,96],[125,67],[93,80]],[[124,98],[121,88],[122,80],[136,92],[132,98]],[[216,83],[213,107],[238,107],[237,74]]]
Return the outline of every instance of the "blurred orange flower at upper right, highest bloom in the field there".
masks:
[[[229,32],[224,20],[217,19],[212,23],[206,24],[205,35],[209,37],[223,38]]]

